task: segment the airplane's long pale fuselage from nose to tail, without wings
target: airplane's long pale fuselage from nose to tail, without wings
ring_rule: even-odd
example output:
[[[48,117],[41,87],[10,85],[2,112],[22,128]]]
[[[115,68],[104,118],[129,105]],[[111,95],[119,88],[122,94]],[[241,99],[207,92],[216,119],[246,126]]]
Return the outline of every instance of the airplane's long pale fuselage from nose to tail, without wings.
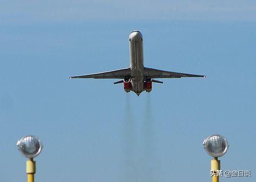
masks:
[[[144,91],[143,37],[139,31],[129,36],[130,69],[133,91],[139,95]]]

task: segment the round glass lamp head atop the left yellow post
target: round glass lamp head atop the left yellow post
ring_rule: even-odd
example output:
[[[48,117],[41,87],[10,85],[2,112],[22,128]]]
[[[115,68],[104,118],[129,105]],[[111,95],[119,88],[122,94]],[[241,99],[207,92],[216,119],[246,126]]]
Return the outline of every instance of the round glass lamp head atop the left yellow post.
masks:
[[[42,143],[39,138],[30,135],[18,140],[17,147],[24,157],[34,158],[41,152]]]

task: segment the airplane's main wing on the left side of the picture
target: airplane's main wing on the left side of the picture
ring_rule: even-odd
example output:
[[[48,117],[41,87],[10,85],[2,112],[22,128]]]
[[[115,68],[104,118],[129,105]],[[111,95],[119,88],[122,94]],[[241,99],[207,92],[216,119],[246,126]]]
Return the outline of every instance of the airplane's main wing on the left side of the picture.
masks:
[[[131,77],[130,68],[123,68],[113,71],[86,74],[80,76],[70,76],[70,79],[125,79],[127,77]]]

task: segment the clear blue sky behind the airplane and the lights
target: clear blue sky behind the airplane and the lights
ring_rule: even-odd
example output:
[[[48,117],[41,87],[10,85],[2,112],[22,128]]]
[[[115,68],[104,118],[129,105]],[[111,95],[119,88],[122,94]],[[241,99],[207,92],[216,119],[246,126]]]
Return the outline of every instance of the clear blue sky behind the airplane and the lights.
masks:
[[[255,2],[1,4],[2,181],[26,180],[16,142],[29,134],[44,144],[36,181],[210,181],[212,134],[230,144],[223,170],[252,172],[221,180],[255,181]],[[69,80],[128,67],[135,29],[145,66],[206,79],[162,79],[140,97]]]

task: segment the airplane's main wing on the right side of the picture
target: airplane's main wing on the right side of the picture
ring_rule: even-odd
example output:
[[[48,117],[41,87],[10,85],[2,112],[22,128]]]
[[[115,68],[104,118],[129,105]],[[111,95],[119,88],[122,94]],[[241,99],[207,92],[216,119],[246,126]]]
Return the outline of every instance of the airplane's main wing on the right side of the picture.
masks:
[[[145,68],[144,76],[148,79],[180,78],[180,77],[205,77],[205,75],[177,73],[160,69]]]

